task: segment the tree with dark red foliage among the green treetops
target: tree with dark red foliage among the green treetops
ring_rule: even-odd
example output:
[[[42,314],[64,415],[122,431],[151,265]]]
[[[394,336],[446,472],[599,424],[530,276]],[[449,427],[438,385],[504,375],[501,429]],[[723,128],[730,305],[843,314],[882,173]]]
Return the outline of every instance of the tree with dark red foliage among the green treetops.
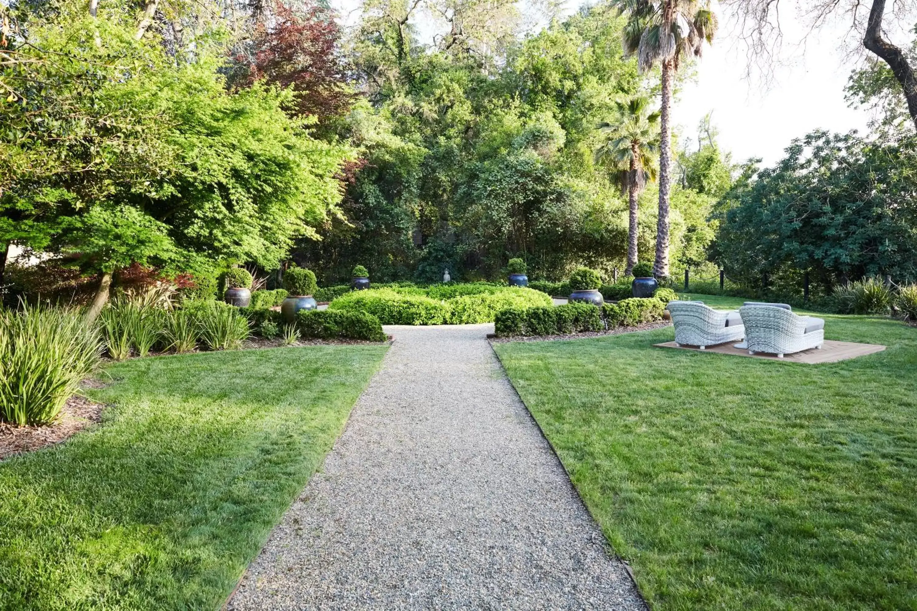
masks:
[[[346,113],[355,94],[347,85],[347,71],[337,54],[340,27],[328,8],[313,0],[295,11],[278,2],[271,25],[260,22],[248,58],[248,82],[264,80],[296,92],[296,113],[319,120]]]

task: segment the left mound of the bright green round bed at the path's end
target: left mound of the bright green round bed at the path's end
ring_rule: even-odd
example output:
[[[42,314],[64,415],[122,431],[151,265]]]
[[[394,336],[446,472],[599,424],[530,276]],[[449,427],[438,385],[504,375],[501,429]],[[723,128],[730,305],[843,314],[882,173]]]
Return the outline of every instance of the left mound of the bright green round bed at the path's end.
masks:
[[[402,295],[394,289],[354,290],[338,297],[329,310],[372,314],[382,324],[446,324],[450,308],[446,301],[422,295]]]

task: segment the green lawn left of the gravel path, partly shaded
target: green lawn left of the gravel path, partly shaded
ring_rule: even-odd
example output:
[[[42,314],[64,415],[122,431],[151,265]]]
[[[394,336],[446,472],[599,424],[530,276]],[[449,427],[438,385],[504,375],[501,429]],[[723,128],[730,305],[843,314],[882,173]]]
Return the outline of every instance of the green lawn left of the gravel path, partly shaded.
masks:
[[[386,347],[110,366],[101,425],[0,463],[0,608],[217,609]]]

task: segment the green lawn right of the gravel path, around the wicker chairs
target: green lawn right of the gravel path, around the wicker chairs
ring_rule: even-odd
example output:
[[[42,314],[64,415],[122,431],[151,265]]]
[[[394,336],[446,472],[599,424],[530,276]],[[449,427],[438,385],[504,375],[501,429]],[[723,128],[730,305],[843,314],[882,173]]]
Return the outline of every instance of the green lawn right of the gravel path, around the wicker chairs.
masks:
[[[825,318],[888,350],[651,347],[670,327],[494,346],[654,608],[917,609],[917,329]]]

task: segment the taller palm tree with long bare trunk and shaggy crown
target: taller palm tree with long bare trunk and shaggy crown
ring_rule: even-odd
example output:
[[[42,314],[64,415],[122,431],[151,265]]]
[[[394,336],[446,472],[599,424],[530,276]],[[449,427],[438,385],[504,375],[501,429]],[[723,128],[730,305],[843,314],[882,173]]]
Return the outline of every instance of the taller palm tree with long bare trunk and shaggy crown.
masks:
[[[703,43],[713,43],[718,22],[710,0],[613,0],[628,16],[624,52],[636,55],[640,71],[662,67],[659,144],[659,221],[653,273],[668,276],[668,195],[672,183],[672,86],[679,63],[701,56]]]

